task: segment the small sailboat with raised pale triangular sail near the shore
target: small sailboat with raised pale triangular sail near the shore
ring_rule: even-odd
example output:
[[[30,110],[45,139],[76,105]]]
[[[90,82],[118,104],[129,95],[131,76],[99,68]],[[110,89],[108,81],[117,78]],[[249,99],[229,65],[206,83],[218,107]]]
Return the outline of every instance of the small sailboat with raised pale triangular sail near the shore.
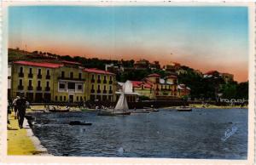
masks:
[[[131,112],[128,110],[129,107],[125,97],[125,93],[122,92],[115,107],[113,109],[99,111],[98,116],[131,115]]]

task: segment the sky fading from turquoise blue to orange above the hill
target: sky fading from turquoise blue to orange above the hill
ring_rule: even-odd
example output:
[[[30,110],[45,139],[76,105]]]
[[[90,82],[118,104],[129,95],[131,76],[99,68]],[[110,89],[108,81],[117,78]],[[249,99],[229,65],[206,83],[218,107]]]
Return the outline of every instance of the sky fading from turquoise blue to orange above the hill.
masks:
[[[247,7],[12,6],[9,48],[158,60],[248,80]]]

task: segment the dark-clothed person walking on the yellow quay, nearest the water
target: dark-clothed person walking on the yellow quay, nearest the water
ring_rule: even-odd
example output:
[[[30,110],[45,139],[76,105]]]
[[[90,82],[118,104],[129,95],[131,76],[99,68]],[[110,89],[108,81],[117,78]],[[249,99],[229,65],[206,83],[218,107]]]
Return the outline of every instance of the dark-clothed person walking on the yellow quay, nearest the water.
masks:
[[[26,115],[26,98],[24,96],[20,97],[16,102],[18,108],[18,121],[19,127],[23,128],[24,117]]]

